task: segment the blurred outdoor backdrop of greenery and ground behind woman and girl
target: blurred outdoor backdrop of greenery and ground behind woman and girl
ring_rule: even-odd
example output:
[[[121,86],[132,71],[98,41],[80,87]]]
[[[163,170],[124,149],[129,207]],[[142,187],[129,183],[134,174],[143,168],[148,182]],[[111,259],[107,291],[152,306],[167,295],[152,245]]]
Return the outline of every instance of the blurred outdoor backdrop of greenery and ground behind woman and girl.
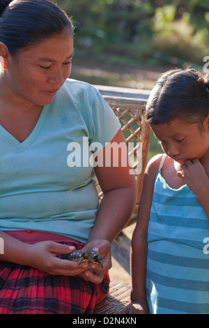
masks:
[[[152,89],[173,67],[202,70],[209,56],[209,1],[58,0],[75,26],[71,77]],[[152,136],[150,156],[161,151]]]

